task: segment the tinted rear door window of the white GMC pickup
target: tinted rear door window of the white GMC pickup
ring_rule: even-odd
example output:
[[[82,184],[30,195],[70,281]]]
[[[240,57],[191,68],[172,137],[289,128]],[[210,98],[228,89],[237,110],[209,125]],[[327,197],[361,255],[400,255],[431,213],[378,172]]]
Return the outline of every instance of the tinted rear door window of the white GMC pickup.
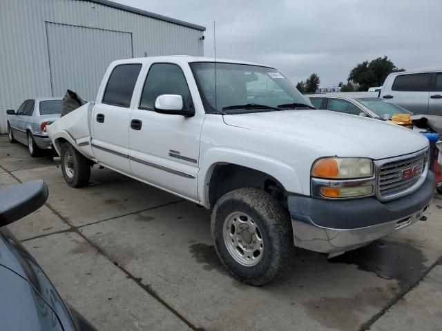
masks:
[[[141,67],[138,63],[116,66],[104,91],[103,103],[126,108],[131,106],[133,89]]]

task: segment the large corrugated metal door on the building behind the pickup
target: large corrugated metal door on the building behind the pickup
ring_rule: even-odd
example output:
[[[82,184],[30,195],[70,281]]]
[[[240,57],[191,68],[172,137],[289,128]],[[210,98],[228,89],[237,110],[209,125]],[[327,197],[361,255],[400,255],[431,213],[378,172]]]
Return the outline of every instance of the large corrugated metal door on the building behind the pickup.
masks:
[[[69,89],[95,101],[109,63],[133,57],[129,32],[46,22],[46,37],[53,97]]]

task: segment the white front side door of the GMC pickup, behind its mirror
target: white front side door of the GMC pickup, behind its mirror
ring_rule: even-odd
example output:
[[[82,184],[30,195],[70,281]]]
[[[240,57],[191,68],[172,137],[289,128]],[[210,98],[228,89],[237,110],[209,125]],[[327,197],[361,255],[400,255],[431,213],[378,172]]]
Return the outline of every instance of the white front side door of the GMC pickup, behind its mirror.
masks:
[[[179,94],[184,108],[194,108],[191,90],[197,90],[189,65],[153,63],[148,68],[129,130],[133,175],[147,183],[198,200],[200,132],[204,114],[193,117],[155,112],[161,94]],[[189,88],[193,83],[193,89]]]

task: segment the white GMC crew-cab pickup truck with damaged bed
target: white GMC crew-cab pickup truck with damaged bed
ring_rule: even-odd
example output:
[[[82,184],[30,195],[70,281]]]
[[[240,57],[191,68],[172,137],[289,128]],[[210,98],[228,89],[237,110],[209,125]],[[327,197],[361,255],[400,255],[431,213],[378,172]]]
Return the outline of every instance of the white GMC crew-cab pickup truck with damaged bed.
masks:
[[[73,187],[93,164],[212,208],[233,276],[263,285],[295,247],[332,255],[421,219],[428,141],[316,110],[278,70],[204,57],[114,61],[95,103],[47,127]]]

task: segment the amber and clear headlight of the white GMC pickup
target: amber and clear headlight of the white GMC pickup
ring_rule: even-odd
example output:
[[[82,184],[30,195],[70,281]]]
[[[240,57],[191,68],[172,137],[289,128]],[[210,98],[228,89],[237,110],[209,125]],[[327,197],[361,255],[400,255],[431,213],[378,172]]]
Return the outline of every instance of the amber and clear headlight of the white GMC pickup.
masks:
[[[311,177],[346,179],[372,176],[372,159],[361,157],[326,157],[316,160],[311,167]]]

